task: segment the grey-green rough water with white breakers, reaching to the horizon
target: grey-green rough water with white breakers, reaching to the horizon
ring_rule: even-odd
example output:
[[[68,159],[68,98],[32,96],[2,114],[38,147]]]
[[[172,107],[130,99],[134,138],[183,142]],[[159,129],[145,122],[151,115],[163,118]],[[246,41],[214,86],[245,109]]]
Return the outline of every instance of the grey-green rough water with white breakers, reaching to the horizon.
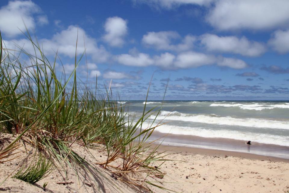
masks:
[[[144,101],[118,103],[127,105],[129,114],[141,116]],[[289,101],[148,101],[146,106],[147,110],[162,107],[157,117],[151,115],[157,121],[164,119],[166,124],[156,128],[160,133],[287,146],[289,159]],[[282,150],[286,154],[286,147]]]

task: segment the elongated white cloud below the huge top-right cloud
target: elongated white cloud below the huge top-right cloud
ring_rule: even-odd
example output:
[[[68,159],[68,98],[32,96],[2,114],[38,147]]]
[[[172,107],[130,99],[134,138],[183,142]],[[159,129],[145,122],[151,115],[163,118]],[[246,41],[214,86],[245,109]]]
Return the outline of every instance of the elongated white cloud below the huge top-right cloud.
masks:
[[[259,56],[266,51],[262,43],[249,41],[246,37],[217,36],[204,34],[200,36],[201,43],[209,51],[229,52],[245,56]]]

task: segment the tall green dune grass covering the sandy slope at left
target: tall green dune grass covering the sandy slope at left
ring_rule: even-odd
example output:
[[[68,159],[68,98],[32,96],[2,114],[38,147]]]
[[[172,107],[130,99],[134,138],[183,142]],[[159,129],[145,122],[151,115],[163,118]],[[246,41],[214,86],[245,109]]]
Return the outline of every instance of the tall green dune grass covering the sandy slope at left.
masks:
[[[103,174],[96,169],[96,163],[113,172],[117,179],[150,190],[149,186],[155,184],[147,177],[163,176],[159,166],[165,159],[161,153],[156,153],[158,146],[152,148],[148,143],[159,124],[152,126],[153,120],[143,128],[143,123],[159,110],[145,111],[144,106],[142,117],[129,119],[125,106],[118,106],[112,99],[110,88],[101,91],[97,86],[90,88],[82,82],[79,84],[76,68],[85,53],[79,58],[75,54],[75,68],[66,78],[64,72],[56,69],[57,52],[49,62],[28,32],[26,36],[34,47],[33,55],[20,46],[16,50],[7,49],[0,33],[0,131],[16,136],[0,152],[0,159],[6,159],[21,142],[34,147],[37,155],[51,158],[64,172],[69,166],[76,174],[80,168],[97,178]],[[30,63],[25,64],[23,58]],[[103,144],[107,160],[91,163],[73,151],[73,144],[86,148]],[[36,168],[42,169],[36,171],[35,166],[30,166],[14,177],[29,178],[30,183],[41,179],[48,165],[44,158],[38,160]],[[119,160],[122,164],[113,165]]]

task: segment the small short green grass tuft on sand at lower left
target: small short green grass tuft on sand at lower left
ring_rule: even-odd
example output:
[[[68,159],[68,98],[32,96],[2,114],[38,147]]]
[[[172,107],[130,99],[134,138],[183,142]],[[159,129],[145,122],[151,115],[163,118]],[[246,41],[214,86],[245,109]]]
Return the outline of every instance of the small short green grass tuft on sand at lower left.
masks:
[[[25,171],[23,171],[23,169],[24,166],[21,167],[21,169],[14,176],[12,176],[12,178],[34,184],[48,176],[48,174],[52,171],[52,163],[45,157],[39,156],[36,163],[30,164]]]

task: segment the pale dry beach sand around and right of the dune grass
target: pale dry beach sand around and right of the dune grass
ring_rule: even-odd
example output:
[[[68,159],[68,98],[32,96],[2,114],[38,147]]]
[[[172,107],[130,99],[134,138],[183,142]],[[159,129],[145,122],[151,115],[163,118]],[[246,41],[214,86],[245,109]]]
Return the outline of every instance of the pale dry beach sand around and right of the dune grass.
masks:
[[[3,139],[5,135],[1,137]],[[2,140],[1,147],[8,142],[9,138],[5,142]],[[19,150],[22,152],[17,156],[20,155],[21,158],[0,164],[0,182],[32,159],[33,156],[26,153],[23,147]],[[93,162],[106,159],[105,153],[99,152],[98,149],[90,149],[91,155],[78,145],[75,145],[73,150]],[[163,163],[161,168],[166,172],[163,179],[148,178],[148,180],[176,192],[289,192],[289,160],[286,159],[190,147],[162,146],[158,151],[170,153],[166,159],[175,161]],[[46,192],[141,192],[138,188],[115,180],[110,176],[110,172],[104,171],[101,167],[97,169],[102,171],[105,177],[97,176],[97,179],[92,180],[88,174],[82,174],[79,183],[75,173],[69,168],[68,180],[62,171],[57,170],[34,185],[9,177],[0,187],[0,191],[44,192],[42,185],[48,182]],[[73,184],[62,185],[56,182],[73,182]],[[117,189],[117,186],[120,189]],[[166,192],[155,187],[152,190]]]

